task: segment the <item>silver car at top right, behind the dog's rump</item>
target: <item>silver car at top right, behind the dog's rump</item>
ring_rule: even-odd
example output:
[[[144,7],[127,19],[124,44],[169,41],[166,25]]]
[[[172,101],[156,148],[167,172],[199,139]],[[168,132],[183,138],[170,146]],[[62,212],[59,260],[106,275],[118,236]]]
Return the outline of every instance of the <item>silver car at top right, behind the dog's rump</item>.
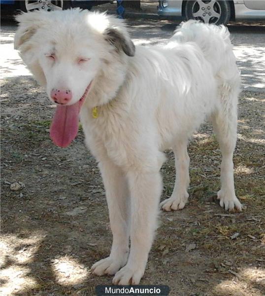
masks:
[[[158,14],[174,19],[195,19],[204,23],[265,20],[265,1],[261,0],[168,0],[159,1]]]

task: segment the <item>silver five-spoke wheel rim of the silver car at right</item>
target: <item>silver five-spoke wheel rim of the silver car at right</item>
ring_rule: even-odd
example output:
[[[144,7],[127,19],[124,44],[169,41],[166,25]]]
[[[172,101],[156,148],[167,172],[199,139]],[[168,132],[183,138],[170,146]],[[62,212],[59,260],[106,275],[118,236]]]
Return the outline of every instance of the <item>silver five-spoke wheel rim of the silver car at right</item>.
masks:
[[[196,20],[204,23],[216,24],[222,14],[221,5],[216,0],[195,1],[192,6],[192,15]]]

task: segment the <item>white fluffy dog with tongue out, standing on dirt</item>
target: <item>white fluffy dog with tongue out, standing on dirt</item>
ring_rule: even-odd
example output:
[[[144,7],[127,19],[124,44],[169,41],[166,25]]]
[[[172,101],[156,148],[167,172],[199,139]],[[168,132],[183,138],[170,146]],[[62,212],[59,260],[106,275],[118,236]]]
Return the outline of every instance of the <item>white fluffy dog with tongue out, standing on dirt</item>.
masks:
[[[51,138],[66,147],[78,130],[99,162],[113,243],[92,266],[114,284],[138,284],[157,227],[163,151],[177,176],[166,210],[188,200],[188,139],[209,118],[222,152],[220,205],[241,211],[233,182],[240,77],[228,30],[183,23],[164,46],[136,46],[123,21],[80,9],[17,17],[15,48],[57,105]],[[129,239],[131,248],[129,252]]]

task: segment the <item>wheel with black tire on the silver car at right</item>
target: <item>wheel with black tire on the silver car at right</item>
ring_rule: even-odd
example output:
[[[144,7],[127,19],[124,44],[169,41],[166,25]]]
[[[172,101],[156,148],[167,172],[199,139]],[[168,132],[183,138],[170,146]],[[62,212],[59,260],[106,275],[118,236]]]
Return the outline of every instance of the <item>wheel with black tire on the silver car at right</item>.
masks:
[[[224,0],[189,0],[186,2],[184,14],[186,20],[196,19],[204,23],[226,25],[231,18],[231,8]]]

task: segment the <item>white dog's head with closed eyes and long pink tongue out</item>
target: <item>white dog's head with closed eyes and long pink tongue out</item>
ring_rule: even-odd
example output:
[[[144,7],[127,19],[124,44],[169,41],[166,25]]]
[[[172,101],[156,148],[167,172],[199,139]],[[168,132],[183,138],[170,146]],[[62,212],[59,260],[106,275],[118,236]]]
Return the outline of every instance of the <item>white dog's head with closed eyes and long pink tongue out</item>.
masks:
[[[134,44],[123,21],[104,13],[35,11],[19,15],[17,21],[15,48],[58,105],[51,136],[65,147],[77,133],[83,102],[93,108],[115,96],[124,80],[128,57],[134,55]],[[92,90],[99,96],[89,102]],[[63,126],[66,113],[71,119]],[[65,130],[69,133],[63,137]]]

